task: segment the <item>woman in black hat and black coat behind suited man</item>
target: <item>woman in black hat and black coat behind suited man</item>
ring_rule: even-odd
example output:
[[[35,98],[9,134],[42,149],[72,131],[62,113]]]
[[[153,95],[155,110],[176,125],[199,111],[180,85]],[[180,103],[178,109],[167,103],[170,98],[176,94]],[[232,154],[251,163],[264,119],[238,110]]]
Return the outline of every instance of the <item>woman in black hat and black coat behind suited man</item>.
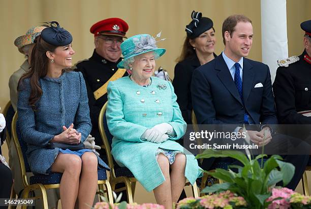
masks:
[[[216,57],[214,53],[216,37],[212,20],[202,17],[201,12],[195,11],[192,12],[191,18],[192,21],[185,28],[187,37],[177,58],[173,80],[177,103],[187,124],[192,124],[193,108],[190,91],[192,73],[195,68]]]

